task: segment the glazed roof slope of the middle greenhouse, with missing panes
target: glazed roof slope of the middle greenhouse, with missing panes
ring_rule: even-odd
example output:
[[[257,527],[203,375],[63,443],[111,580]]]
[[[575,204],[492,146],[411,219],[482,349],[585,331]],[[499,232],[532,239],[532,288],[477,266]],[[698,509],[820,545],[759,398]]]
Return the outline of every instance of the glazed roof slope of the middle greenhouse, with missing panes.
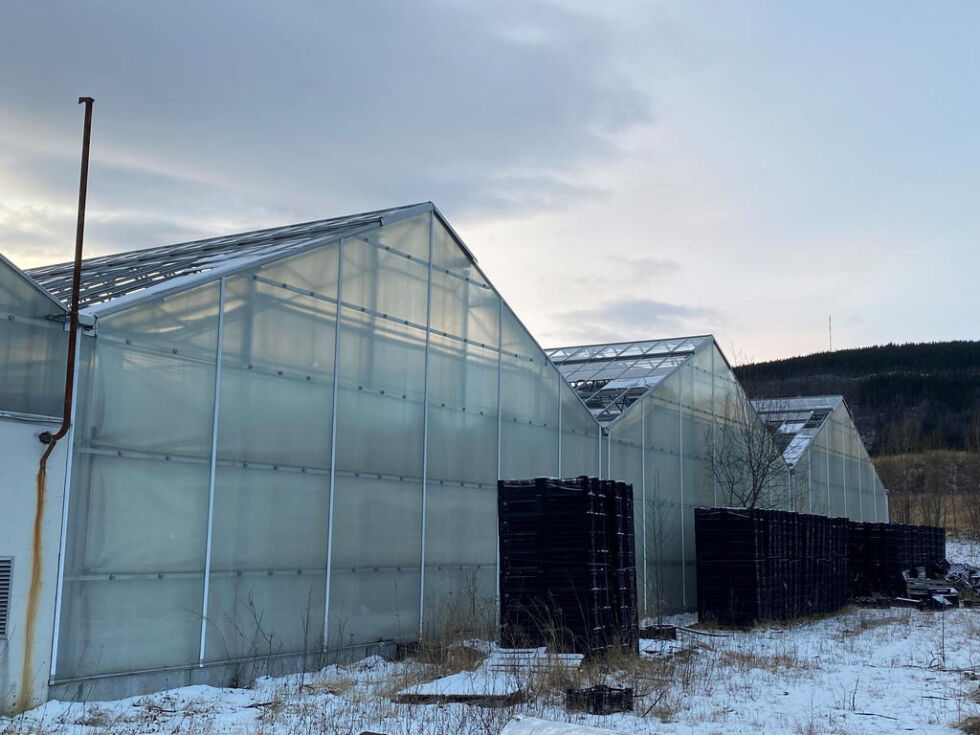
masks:
[[[556,347],[545,350],[565,380],[603,426],[689,360],[714,337]]]

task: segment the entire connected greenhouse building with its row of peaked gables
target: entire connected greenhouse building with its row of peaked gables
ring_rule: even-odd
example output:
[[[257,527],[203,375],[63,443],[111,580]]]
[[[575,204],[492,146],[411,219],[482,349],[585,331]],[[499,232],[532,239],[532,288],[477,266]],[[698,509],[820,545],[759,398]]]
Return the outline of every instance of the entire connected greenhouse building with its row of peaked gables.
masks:
[[[32,501],[71,284],[0,261],[0,471]],[[0,710],[491,626],[500,478],[632,483],[644,611],[694,606],[692,509],[724,500],[711,436],[744,399],[712,337],[546,353],[431,203],[90,258],[79,296],[71,432],[0,518]],[[814,512],[824,485],[886,512],[824,433],[773,498],[805,466]]]

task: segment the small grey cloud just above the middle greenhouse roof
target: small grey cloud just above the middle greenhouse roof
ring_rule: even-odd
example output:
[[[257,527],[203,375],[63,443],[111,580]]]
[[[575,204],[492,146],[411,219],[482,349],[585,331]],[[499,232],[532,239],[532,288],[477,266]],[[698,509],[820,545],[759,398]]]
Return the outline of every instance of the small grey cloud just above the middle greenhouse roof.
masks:
[[[626,342],[714,332],[725,319],[714,309],[646,298],[609,301],[555,314],[562,332],[582,343]]]

